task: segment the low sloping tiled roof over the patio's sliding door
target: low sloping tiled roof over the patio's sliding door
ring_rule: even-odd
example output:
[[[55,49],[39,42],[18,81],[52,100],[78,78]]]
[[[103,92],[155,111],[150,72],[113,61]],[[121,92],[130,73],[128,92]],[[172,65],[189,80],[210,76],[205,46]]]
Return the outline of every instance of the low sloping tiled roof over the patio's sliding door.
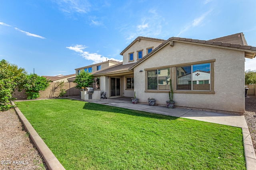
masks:
[[[113,66],[109,66],[107,68],[104,68],[102,70],[98,70],[93,73],[94,76],[98,75],[105,75],[105,74],[116,74],[116,73],[124,73],[124,72],[130,72],[130,68],[136,63],[131,64],[124,64],[123,62],[115,64]]]

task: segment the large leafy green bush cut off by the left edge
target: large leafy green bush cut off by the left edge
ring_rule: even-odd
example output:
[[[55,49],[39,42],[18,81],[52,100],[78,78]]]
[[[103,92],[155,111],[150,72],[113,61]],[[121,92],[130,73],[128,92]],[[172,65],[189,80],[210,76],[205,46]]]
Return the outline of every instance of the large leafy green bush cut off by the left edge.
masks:
[[[14,107],[11,105],[14,100],[12,93],[22,89],[25,78],[24,68],[18,68],[16,64],[10,64],[6,60],[0,61],[0,111]]]

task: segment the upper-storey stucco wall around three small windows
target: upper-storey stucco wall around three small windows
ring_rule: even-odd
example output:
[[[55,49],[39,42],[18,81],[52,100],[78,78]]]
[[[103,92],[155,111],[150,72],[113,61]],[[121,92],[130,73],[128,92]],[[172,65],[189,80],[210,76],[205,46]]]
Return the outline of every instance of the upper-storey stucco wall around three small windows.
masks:
[[[159,41],[152,41],[152,40],[146,40],[146,39],[141,39],[140,41],[136,41],[130,48],[128,48],[124,53],[123,53],[123,64],[130,64],[130,63],[135,63],[137,62],[137,51],[138,50],[143,50],[142,51],[142,56],[144,57],[147,55],[147,48],[153,47],[155,49],[158,47],[162,42]],[[129,62],[129,53],[134,52],[134,61]]]

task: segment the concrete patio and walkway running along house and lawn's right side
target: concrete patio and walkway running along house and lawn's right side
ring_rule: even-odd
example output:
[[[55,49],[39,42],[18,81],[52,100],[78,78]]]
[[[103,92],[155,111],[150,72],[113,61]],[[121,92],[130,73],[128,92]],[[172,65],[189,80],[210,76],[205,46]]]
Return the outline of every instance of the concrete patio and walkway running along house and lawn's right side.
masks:
[[[211,111],[199,111],[181,108],[168,109],[166,106],[148,106],[146,104],[140,103],[132,104],[131,98],[126,97],[108,98],[103,100],[88,100],[86,102],[240,127],[242,128],[244,139],[246,169],[256,170],[256,156],[244,115],[232,115],[227,113],[216,113]]]

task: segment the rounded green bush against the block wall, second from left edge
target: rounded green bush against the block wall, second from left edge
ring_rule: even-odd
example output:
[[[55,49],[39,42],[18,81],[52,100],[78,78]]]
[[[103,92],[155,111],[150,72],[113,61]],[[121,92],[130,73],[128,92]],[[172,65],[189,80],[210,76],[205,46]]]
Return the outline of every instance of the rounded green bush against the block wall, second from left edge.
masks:
[[[36,99],[40,97],[39,91],[44,91],[48,86],[49,81],[45,77],[29,74],[23,87],[28,95],[27,99]]]

